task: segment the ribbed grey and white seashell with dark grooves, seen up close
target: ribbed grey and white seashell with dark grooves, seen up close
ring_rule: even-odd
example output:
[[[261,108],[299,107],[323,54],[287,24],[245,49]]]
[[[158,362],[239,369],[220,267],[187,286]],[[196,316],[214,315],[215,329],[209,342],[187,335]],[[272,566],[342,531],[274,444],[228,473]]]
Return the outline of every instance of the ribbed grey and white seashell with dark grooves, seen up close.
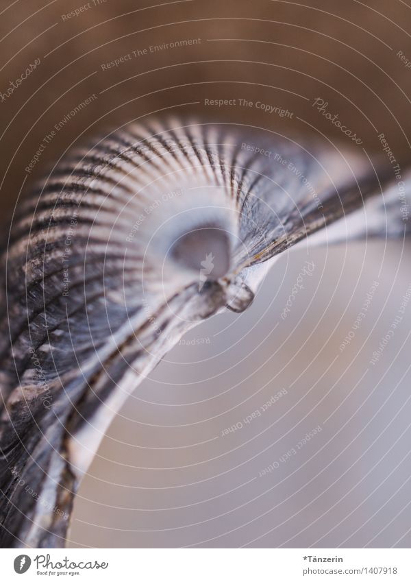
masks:
[[[64,546],[129,393],[188,329],[247,308],[279,254],[408,233],[410,174],[401,198],[358,151],[152,120],[69,154],[19,204],[3,254],[3,546]]]

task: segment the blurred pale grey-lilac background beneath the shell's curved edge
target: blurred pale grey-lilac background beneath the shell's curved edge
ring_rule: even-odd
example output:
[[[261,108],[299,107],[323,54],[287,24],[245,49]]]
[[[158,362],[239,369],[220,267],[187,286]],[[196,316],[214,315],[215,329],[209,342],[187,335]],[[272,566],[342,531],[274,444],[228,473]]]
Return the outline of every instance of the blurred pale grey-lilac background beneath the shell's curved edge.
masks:
[[[248,311],[192,330],[185,339],[210,343],[177,345],[112,424],[69,546],[409,547],[410,305],[369,363],[410,287],[408,252],[402,242],[303,245],[280,258]],[[314,273],[282,321],[305,260]]]

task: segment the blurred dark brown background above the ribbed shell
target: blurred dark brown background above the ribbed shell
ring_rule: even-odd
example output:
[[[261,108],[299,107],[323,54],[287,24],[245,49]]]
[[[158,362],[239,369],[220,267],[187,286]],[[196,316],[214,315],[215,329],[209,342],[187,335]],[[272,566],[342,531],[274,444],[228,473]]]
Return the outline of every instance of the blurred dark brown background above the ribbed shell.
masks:
[[[164,109],[340,138],[340,130],[312,107],[316,97],[328,101],[328,110],[338,112],[369,149],[379,147],[376,128],[389,138],[397,157],[408,151],[411,69],[397,56],[401,50],[411,59],[406,3],[94,2],[1,3],[1,93],[40,59],[12,96],[0,102],[5,206],[13,204],[24,168],[43,137],[93,93],[92,106],[56,134],[32,175],[41,175],[84,134]],[[66,16],[82,8],[78,16]],[[188,39],[201,42],[149,51]],[[133,56],[132,51],[143,49],[147,55]],[[131,60],[102,69],[127,54]],[[257,108],[205,108],[205,97],[260,100],[288,108],[293,118]],[[186,105],[193,101],[200,103]]]

